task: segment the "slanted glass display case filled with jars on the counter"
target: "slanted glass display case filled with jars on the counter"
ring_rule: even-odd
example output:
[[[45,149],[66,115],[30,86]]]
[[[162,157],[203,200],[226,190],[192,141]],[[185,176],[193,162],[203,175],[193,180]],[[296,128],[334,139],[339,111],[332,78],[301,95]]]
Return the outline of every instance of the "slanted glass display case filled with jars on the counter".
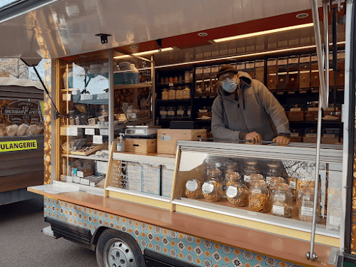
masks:
[[[178,145],[172,197],[175,211],[286,236],[300,231],[300,238],[308,240],[305,234],[311,231],[315,194],[313,145],[281,147],[268,142],[253,145],[223,140],[178,141]],[[235,179],[223,189],[222,177],[226,170],[230,172],[231,164],[239,173],[235,175],[244,179]],[[322,146],[319,173],[316,239],[337,244],[342,214],[342,146]],[[199,194],[192,197],[187,192]]]

